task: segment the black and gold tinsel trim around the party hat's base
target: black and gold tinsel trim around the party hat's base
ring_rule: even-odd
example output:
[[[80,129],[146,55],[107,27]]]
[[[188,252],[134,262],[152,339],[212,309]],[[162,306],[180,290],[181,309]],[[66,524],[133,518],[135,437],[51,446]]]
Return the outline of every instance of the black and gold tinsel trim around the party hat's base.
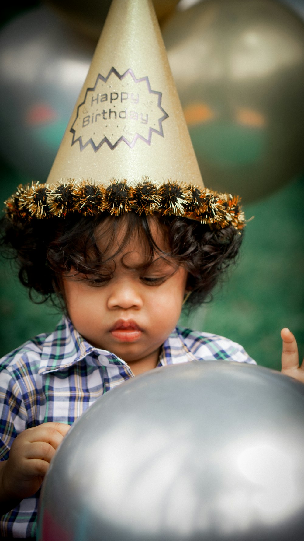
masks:
[[[116,179],[108,186],[75,179],[55,187],[32,182],[18,186],[16,193],[5,201],[5,213],[12,220],[71,214],[96,216],[102,212],[119,216],[131,211],[139,215],[184,216],[215,229],[227,226],[242,229],[246,223],[237,196],[172,180],[157,186],[148,177],[135,186]]]

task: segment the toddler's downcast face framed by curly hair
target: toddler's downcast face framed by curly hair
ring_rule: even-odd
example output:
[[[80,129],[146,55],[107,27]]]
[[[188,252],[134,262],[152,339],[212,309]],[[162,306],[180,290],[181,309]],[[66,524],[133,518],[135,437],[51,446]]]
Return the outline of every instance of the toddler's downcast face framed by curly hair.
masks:
[[[166,250],[156,221],[151,232]],[[113,246],[113,253],[117,248]],[[157,365],[160,346],[179,319],[187,279],[183,267],[157,254],[143,270],[145,258],[143,241],[134,238],[114,258],[109,280],[94,286],[72,271],[63,278],[67,311],[77,331],[93,346],[126,361],[134,374]]]

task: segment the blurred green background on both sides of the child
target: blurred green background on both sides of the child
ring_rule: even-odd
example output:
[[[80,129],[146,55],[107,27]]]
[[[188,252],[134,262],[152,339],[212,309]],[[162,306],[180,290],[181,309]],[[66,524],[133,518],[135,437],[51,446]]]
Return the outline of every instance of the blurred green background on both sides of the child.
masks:
[[[35,6],[39,2],[25,4]],[[3,22],[18,12],[12,6]],[[194,126],[193,134],[195,129]],[[205,131],[205,136],[210,141],[210,131]],[[235,152],[233,145],[232,149]],[[39,156],[33,159],[39,160]],[[4,157],[0,173],[1,201],[19,183],[32,180],[16,172]],[[245,204],[247,220],[254,218],[246,226],[238,265],[216,289],[212,302],[190,316],[183,314],[180,320],[185,326],[239,342],[258,364],[276,370],[280,370],[282,327],[293,331],[300,355],[304,353],[303,180],[304,175],[292,177],[270,195]],[[242,193],[241,188],[239,192]],[[1,356],[35,334],[51,332],[60,314],[52,306],[36,305],[29,300],[9,261],[0,260],[0,272]]]

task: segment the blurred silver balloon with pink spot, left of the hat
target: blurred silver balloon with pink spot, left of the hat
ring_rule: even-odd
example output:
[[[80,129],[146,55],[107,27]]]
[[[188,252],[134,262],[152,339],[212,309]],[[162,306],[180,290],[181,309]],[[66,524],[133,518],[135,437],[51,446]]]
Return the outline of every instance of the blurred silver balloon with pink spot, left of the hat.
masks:
[[[1,30],[0,154],[21,173],[46,180],[94,46],[45,7]]]

